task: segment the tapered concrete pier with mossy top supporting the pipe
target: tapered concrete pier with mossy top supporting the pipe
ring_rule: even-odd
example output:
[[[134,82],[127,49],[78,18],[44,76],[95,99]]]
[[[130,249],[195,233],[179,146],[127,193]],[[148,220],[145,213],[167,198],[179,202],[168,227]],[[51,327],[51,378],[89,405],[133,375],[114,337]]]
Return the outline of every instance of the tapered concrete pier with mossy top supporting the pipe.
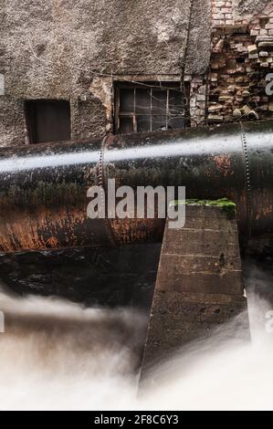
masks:
[[[166,222],[142,378],[173,351],[209,336],[244,310],[235,206],[187,205],[184,228],[171,229]],[[247,335],[247,312],[238,330],[242,325]]]

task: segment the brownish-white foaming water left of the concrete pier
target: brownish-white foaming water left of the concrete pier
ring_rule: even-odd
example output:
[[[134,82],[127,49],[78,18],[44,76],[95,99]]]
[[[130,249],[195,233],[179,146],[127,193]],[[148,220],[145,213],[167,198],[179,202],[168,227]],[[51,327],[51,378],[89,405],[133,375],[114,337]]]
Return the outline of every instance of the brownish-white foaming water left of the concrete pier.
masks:
[[[0,308],[0,409],[122,409],[134,401],[142,314],[5,294]]]

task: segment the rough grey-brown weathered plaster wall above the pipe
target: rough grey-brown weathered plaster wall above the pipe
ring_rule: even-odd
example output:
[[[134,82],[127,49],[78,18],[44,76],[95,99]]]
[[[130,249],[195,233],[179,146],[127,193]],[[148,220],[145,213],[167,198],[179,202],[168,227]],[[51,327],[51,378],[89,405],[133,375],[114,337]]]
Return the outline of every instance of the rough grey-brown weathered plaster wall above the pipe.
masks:
[[[103,104],[111,76],[179,76],[190,16],[188,70],[204,70],[210,0],[193,1],[191,14],[191,0],[5,0],[0,144],[26,142],[24,99],[69,99],[72,138],[109,131],[110,106]],[[92,91],[97,74],[102,94]]]

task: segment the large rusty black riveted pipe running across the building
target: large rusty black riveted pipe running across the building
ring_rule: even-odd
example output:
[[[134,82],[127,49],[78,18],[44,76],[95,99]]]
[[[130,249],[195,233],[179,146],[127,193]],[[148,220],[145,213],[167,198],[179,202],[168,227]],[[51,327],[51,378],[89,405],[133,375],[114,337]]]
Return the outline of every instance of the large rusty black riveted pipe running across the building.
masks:
[[[88,218],[87,190],[107,179],[227,197],[242,237],[271,235],[273,121],[2,149],[0,251],[161,241],[161,219]]]

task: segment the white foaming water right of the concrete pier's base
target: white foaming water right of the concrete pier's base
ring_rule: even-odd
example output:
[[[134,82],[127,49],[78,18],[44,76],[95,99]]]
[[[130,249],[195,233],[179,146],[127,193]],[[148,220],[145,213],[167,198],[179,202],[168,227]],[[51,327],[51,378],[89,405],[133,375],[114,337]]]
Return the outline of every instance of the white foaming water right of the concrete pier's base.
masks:
[[[158,388],[146,396],[150,407],[174,410],[272,410],[273,334],[265,329],[269,304],[249,299],[251,342],[236,340],[235,323],[222,335],[234,331],[227,342],[220,333],[195,342],[181,354],[157,368]]]

